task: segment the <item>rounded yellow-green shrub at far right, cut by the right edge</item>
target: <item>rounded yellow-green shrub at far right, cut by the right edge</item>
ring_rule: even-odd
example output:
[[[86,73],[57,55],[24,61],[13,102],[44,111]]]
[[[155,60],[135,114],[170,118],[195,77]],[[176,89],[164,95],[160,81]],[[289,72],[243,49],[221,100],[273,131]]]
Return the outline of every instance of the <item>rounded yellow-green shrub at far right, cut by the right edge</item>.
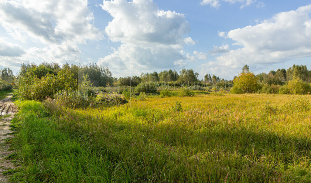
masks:
[[[280,94],[310,94],[311,86],[309,83],[299,79],[293,79],[287,85],[283,85],[279,91]]]

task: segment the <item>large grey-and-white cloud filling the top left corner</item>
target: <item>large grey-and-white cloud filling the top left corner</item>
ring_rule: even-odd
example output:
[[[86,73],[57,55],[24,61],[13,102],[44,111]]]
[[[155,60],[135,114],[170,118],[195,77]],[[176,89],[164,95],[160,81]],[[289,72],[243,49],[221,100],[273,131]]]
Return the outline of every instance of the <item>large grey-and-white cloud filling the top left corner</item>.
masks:
[[[35,39],[43,43],[85,43],[102,39],[94,27],[87,0],[15,0],[0,3],[0,24],[16,39]]]

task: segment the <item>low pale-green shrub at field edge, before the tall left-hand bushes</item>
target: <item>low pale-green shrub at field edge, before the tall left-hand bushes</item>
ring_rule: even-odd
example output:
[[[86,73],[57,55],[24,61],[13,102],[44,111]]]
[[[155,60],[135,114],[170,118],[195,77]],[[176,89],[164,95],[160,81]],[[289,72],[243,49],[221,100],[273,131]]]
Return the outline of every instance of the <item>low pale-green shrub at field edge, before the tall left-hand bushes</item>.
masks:
[[[62,90],[54,95],[55,103],[59,106],[69,108],[80,108],[90,105],[87,94],[82,94],[80,90]]]

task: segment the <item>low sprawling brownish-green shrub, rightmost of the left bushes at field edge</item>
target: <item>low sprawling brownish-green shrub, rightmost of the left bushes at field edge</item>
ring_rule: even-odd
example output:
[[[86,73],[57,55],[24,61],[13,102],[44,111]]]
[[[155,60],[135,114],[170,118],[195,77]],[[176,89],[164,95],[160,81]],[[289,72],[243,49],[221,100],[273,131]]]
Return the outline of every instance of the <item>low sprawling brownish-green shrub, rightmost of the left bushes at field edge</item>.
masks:
[[[95,102],[98,104],[113,104],[113,105],[121,105],[123,103],[127,103],[126,99],[122,94],[118,93],[103,93],[97,92]]]

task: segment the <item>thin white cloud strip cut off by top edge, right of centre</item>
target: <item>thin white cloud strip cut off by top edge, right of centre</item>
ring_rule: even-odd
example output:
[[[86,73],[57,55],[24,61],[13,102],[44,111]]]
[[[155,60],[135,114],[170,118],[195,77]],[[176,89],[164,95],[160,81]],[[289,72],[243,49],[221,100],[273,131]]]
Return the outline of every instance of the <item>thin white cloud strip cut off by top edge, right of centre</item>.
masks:
[[[210,5],[211,7],[214,7],[216,9],[218,9],[220,7],[220,2],[219,1],[223,1],[223,2],[229,2],[230,4],[235,4],[235,3],[241,3],[242,5],[240,6],[240,9],[242,9],[245,6],[250,6],[251,4],[255,4],[257,1],[256,0],[201,0],[200,4],[202,6],[204,5]],[[256,7],[264,7],[265,4],[263,2],[258,2],[256,4]]]

